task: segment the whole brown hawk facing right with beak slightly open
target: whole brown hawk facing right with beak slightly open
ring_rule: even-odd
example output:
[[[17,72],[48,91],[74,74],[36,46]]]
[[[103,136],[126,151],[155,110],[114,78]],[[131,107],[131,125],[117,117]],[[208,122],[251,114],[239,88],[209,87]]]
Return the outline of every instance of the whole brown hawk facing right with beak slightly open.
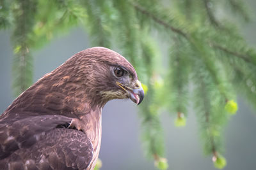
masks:
[[[143,96],[122,55],[103,47],[76,53],[0,116],[0,169],[93,169],[104,104],[125,98],[140,104]]]

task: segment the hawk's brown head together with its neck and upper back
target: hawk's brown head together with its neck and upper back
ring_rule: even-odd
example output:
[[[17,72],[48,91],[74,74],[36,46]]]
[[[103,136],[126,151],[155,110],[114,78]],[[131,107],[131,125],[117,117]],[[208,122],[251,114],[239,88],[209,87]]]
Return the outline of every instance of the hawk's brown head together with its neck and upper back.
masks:
[[[20,94],[8,111],[83,114],[112,99],[140,104],[144,91],[134,67],[119,53],[93,47],[76,53]]]

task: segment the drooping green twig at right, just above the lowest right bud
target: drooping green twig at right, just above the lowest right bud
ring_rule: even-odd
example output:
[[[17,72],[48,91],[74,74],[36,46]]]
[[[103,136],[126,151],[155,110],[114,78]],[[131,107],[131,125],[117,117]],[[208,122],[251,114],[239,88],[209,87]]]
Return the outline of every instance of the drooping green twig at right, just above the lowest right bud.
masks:
[[[217,142],[218,140],[220,141],[220,129],[216,129],[216,127],[220,127],[221,121],[216,120],[216,118],[220,118],[220,115],[221,117],[225,118],[223,113],[218,113],[218,110],[215,110],[214,107],[218,108],[223,105],[213,103],[211,90],[214,89],[211,87],[211,83],[208,80],[209,78],[206,77],[207,74],[199,72],[194,76],[196,76],[197,81],[195,96],[198,96],[198,101],[196,101],[195,106],[198,110],[198,122],[202,131],[201,136],[204,140],[205,153],[212,153],[214,155],[216,152],[220,151],[221,147],[220,143]]]

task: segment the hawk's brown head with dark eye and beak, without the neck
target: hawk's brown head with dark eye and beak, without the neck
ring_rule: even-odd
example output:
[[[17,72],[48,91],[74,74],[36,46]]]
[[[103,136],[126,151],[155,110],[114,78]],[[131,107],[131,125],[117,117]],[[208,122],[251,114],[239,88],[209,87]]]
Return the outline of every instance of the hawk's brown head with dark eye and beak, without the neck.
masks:
[[[69,64],[74,67],[67,72],[75,73],[74,79],[83,81],[86,98],[92,99],[92,104],[104,105],[112,99],[127,98],[140,104],[143,100],[144,91],[134,67],[113,50],[88,48],[76,53],[63,66]]]

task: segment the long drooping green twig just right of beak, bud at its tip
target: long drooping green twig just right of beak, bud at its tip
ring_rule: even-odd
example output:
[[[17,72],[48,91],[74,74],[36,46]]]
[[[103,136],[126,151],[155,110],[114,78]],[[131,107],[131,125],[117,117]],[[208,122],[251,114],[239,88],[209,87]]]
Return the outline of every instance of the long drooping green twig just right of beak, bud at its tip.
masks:
[[[159,103],[159,96],[157,90],[152,86],[152,74],[156,63],[154,59],[156,58],[156,50],[151,39],[148,38],[148,32],[146,29],[140,30],[140,43],[141,52],[143,56],[143,62],[145,67],[147,67],[147,78],[143,76],[143,82],[148,85],[148,92],[145,94],[145,100],[141,105],[140,116],[141,116],[141,128],[142,131],[142,141],[145,147],[147,156],[154,159],[154,164],[158,169],[166,169],[168,167],[167,160],[163,158],[164,154],[164,144],[163,144],[163,131],[161,123],[159,120],[159,108],[161,104]],[[160,166],[159,166],[160,164]],[[163,167],[164,165],[164,167]]]

